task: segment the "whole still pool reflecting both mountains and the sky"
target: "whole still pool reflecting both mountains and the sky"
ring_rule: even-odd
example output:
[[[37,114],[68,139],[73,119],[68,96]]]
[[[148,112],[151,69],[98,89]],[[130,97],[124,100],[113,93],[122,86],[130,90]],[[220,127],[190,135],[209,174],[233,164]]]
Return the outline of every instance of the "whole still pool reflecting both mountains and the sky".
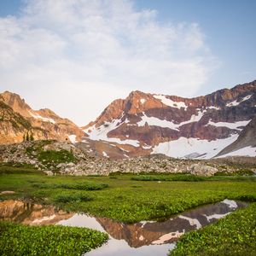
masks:
[[[124,224],[109,218],[93,218],[85,214],[67,213],[55,207],[23,201],[0,201],[0,220],[22,224],[62,224],[86,227],[108,233],[109,241],[88,255],[166,255],[175,241],[189,230],[200,229],[235,211],[247,203],[224,200],[217,204],[183,212],[165,222],[142,221]],[[87,254],[86,254],[87,255]]]

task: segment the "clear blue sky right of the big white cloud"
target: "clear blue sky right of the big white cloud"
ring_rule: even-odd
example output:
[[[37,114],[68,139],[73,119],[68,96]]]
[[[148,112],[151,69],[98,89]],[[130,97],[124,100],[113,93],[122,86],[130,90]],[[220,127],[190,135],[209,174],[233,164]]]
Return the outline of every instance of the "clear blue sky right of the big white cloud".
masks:
[[[256,1],[137,0],[137,5],[157,9],[162,22],[200,24],[212,53],[222,62],[202,93],[256,79]]]

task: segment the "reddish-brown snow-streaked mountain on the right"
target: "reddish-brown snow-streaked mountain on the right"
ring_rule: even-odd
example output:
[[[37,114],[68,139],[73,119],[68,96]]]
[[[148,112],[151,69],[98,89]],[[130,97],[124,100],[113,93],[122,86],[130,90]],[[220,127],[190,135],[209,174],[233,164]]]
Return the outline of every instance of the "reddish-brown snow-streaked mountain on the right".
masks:
[[[110,158],[166,154],[209,159],[236,142],[255,114],[256,81],[195,98],[136,90],[82,129],[88,135],[84,143],[97,142],[96,154]],[[111,148],[119,148],[118,156]]]

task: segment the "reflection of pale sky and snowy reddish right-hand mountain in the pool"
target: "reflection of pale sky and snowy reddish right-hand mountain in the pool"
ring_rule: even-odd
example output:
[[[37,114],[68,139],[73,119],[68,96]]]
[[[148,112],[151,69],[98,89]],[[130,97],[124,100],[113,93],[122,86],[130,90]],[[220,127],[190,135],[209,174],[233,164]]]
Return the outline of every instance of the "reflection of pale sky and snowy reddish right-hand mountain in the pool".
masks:
[[[168,250],[174,247],[173,242],[185,232],[200,229],[237,208],[246,206],[247,204],[243,202],[224,200],[183,212],[165,222],[142,221],[136,224],[124,224],[109,218],[92,218],[85,214],[75,214],[59,224],[90,227],[107,232],[110,240],[102,247],[88,253],[91,256],[166,255]]]

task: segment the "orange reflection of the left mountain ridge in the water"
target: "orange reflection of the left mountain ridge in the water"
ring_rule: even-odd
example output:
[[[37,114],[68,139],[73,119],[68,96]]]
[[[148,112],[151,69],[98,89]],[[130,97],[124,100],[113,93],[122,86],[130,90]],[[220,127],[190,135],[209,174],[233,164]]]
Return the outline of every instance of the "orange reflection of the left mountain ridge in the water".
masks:
[[[56,224],[61,219],[71,218],[73,213],[63,212],[51,206],[31,204],[24,201],[0,201],[0,220],[22,224]]]

